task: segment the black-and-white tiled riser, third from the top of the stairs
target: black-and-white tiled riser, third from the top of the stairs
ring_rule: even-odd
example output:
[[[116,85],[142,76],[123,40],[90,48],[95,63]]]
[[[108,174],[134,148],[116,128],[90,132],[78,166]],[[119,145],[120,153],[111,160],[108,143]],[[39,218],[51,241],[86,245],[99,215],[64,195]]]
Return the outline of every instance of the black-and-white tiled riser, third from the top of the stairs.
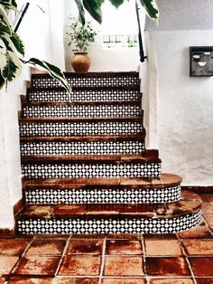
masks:
[[[142,113],[137,104],[129,105],[73,105],[73,106],[24,106],[24,118],[95,118],[137,117]]]

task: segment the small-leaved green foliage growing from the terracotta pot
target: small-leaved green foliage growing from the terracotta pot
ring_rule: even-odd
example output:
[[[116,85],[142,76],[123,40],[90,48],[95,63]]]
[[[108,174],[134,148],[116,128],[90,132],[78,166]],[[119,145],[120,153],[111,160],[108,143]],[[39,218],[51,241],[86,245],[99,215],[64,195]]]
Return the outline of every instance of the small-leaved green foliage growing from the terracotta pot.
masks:
[[[74,45],[74,52],[87,52],[90,43],[95,42],[97,35],[96,31],[92,28],[90,22],[81,24],[75,17],[69,16],[70,24],[67,25],[70,37],[70,44]]]

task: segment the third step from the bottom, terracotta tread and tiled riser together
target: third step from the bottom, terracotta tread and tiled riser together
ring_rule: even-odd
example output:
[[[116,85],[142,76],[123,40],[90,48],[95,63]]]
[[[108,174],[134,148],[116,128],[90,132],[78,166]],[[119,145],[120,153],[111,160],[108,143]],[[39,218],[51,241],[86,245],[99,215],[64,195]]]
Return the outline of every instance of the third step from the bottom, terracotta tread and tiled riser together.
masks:
[[[26,178],[156,177],[161,160],[156,156],[22,156]]]

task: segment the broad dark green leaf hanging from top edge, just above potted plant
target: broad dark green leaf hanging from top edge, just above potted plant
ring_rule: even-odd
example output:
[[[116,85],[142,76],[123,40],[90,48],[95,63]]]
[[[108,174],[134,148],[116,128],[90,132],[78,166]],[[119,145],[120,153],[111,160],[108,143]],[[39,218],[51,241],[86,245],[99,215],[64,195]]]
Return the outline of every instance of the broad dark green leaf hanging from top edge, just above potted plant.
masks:
[[[102,22],[101,5],[104,0],[83,0],[83,5],[88,13],[99,23]]]

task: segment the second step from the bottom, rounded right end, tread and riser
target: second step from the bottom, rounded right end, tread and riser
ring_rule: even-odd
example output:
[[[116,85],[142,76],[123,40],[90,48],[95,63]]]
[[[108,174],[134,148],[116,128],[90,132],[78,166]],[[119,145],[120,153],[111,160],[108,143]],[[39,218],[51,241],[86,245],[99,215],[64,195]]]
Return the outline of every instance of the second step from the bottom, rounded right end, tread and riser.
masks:
[[[162,204],[181,199],[181,176],[147,178],[31,179],[26,204]]]

